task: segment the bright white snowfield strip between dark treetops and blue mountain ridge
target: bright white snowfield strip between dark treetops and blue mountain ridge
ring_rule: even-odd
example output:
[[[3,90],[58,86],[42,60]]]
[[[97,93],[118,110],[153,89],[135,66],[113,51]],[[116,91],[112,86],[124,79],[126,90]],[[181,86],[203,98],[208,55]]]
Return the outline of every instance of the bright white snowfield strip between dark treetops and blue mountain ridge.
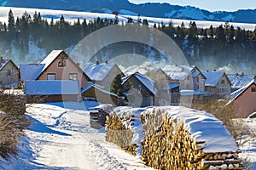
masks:
[[[97,17],[100,17],[102,19],[112,19],[114,20],[115,15],[114,14],[101,14],[101,13],[90,13],[90,12],[76,12],[76,11],[64,11],[64,10],[52,10],[52,9],[42,9],[42,8],[13,8],[13,7],[0,7],[0,21],[2,22],[8,22],[8,14],[9,10],[12,9],[15,18],[17,16],[21,17],[22,14],[26,11],[28,14],[33,16],[35,11],[40,12],[42,18],[47,19],[48,21],[53,18],[54,20],[60,20],[61,15],[64,16],[65,20],[70,21],[73,23],[73,21],[78,20],[95,20]],[[119,21],[126,22],[129,17],[132,18],[132,20],[137,21],[136,15],[131,15],[131,13],[128,11],[127,13],[119,14]],[[147,16],[141,16],[141,20],[147,19],[148,24],[153,26],[155,24],[159,24],[163,22],[164,24],[168,25],[171,19],[168,18],[154,18],[154,17],[147,17]],[[191,20],[176,20],[172,19],[172,25],[173,26],[180,26],[183,22],[184,26],[189,27],[189,23]],[[192,20],[193,21],[193,20]],[[213,27],[220,26],[221,24],[224,25],[224,22],[219,21],[202,21],[202,20],[195,20],[195,23],[197,27],[199,28],[209,28],[211,25]],[[246,30],[254,30],[255,24],[246,24],[246,23],[233,23],[230,22],[230,25],[233,25],[235,28],[237,26],[241,27],[241,29]]]

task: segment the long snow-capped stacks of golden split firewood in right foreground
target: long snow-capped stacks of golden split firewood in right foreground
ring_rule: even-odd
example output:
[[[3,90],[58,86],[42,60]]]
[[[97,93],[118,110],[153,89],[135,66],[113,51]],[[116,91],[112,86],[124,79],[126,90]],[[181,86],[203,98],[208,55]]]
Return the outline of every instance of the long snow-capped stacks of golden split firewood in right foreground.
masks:
[[[106,139],[157,169],[242,169],[235,139],[205,111],[118,108],[108,117]]]

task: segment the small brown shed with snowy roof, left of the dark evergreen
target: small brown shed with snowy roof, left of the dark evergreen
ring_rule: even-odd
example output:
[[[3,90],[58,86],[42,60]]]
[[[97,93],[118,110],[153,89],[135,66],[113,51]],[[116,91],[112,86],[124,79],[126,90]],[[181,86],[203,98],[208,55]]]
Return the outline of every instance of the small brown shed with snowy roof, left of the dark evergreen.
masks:
[[[119,98],[117,94],[110,93],[95,84],[90,84],[81,91],[83,99],[92,99],[102,104],[120,105],[124,100]]]

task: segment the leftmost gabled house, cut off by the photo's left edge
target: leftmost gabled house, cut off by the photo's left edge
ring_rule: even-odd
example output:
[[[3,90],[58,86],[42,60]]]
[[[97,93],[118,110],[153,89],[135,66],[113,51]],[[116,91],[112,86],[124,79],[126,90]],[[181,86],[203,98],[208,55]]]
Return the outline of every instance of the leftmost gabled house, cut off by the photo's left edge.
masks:
[[[12,59],[0,57],[0,87],[11,88],[19,86],[19,69]]]

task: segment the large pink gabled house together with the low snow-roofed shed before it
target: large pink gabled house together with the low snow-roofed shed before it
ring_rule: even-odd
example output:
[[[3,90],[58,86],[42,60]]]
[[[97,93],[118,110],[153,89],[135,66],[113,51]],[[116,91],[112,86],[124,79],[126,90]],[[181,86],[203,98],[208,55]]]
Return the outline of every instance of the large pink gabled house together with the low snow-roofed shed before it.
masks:
[[[54,101],[64,95],[67,100],[80,100],[81,89],[90,81],[63,50],[53,50],[40,64],[20,65],[20,79],[25,85],[24,94],[50,96]]]

